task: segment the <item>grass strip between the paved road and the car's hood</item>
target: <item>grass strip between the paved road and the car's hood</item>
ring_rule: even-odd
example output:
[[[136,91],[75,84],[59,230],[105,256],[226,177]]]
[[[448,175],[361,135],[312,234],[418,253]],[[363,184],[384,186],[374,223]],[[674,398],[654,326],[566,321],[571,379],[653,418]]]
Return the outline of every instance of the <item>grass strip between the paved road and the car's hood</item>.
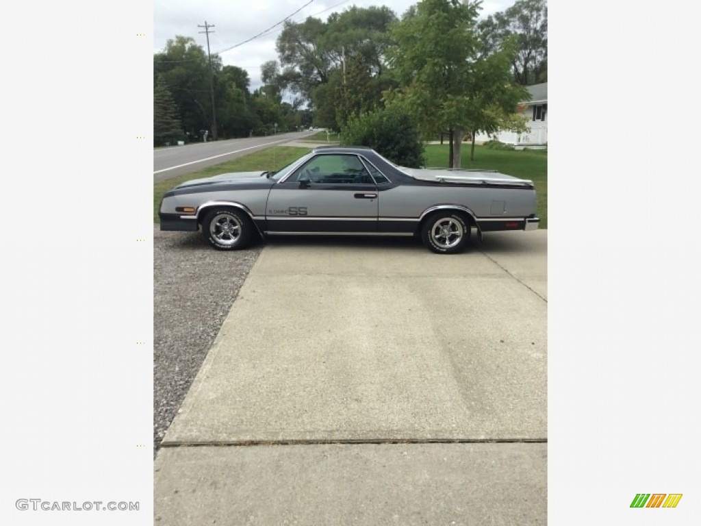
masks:
[[[311,148],[275,146],[261,151],[255,151],[252,154],[233,159],[233,161],[207,166],[207,168],[203,168],[203,170],[198,170],[197,172],[191,172],[180,175],[179,177],[156,182],[154,183],[154,223],[161,222],[161,220],[158,219],[158,207],[161,205],[163,194],[184,181],[212,177],[212,175],[228,172],[252,172],[254,170],[275,172],[292,163],[295,159],[299,159],[310,150]]]

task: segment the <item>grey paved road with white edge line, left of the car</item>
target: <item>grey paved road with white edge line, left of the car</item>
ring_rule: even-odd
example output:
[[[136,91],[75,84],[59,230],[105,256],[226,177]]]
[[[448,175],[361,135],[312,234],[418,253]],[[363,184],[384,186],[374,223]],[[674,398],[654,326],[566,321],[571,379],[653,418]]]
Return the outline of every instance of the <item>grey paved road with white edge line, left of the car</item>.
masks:
[[[154,182],[177,177],[184,173],[231,161],[252,151],[274,144],[284,144],[315,132],[280,133],[268,137],[229,139],[212,142],[196,142],[186,146],[173,146],[154,150]]]

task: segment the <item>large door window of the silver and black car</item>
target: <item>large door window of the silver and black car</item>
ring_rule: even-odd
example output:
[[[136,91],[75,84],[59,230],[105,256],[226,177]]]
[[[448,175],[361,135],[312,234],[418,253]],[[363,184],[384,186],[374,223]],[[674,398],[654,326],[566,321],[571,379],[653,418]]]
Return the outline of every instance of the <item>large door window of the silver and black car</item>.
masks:
[[[300,177],[306,177],[312,184],[373,184],[372,177],[355,155],[320,154],[285,182],[299,182]]]

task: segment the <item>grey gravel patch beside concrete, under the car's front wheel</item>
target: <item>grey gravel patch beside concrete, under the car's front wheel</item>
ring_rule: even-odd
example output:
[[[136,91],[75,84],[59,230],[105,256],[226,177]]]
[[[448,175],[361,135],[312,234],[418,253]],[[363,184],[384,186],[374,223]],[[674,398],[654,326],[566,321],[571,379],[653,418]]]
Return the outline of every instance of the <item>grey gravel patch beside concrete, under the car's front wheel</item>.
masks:
[[[261,250],[222,252],[154,224],[154,453]]]

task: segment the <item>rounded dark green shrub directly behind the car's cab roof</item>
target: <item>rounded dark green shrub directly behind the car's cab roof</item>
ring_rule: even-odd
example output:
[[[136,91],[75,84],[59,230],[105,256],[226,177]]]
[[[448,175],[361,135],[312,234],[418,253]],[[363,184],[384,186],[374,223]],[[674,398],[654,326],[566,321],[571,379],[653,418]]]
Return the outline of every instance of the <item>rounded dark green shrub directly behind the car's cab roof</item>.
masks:
[[[400,166],[418,168],[425,161],[423,143],[411,118],[387,107],[348,119],[341,144],[367,146]]]

